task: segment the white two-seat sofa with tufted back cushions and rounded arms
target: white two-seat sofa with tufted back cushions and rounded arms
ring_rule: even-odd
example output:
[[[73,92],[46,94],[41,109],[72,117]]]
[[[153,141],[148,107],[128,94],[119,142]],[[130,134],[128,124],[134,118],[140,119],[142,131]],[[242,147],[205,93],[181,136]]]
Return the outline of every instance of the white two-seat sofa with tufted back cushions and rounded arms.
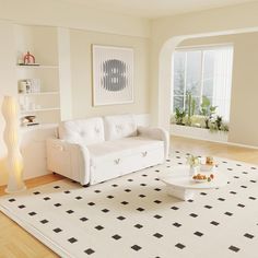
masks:
[[[97,184],[163,163],[168,133],[138,127],[133,115],[60,122],[47,140],[47,167],[81,185]]]

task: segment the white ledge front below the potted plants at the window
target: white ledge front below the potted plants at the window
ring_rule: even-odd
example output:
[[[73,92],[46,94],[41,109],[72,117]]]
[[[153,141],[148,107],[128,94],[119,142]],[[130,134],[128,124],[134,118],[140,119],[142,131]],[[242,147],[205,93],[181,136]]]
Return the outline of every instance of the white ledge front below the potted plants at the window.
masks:
[[[228,132],[225,131],[211,132],[206,128],[180,126],[176,124],[171,125],[171,134],[213,142],[227,142],[228,138]]]

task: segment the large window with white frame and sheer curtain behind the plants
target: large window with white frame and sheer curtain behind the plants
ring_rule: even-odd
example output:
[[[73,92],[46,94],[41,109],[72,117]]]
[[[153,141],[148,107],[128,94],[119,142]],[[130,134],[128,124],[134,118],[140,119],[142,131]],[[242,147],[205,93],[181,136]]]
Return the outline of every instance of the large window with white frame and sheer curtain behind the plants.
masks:
[[[187,110],[187,94],[196,99],[199,114],[202,96],[207,96],[216,114],[230,120],[233,46],[184,48],[174,55],[172,113]]]

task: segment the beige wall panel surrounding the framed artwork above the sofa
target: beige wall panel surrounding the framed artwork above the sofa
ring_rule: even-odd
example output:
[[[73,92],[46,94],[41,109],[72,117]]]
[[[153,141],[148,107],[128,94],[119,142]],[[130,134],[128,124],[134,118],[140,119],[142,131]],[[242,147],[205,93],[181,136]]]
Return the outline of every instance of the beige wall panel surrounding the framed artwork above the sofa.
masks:
[[[79,30],[72,30],[70,36],[73,118],[149,113],[149,39]],[[92,44],[133,48],[134,102],[132,104],[93,107]]]

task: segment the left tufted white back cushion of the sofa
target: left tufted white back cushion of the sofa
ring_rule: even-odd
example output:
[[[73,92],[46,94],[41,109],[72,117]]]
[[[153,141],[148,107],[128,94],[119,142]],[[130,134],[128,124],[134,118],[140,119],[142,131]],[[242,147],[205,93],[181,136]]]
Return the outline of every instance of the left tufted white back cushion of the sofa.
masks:
[[[72,143],[95,144],[105,141],[102,117],[59,124],[59,138]]]

